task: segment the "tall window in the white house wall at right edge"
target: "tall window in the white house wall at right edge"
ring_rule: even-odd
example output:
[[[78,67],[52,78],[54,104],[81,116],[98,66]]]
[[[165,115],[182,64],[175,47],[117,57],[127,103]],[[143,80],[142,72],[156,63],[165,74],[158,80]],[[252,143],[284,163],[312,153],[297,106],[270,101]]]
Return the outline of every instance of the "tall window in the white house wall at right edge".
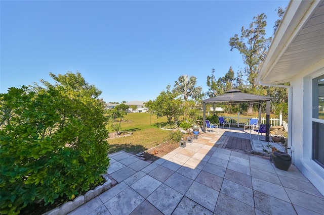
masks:
[[[324,75],[313,79],[312,159],[324,168]]]

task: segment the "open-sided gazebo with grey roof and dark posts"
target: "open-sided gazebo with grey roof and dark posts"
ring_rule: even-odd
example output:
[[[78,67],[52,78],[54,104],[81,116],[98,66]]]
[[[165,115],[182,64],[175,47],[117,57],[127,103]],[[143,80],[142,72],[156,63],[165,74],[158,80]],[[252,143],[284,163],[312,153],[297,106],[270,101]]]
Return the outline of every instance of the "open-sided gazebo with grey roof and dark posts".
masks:
[[[269,142],[270,136],[270,100],[272,97],[243,93],[239,89],[231,89],[225,94],[203,100],[203,130],[206,132],[206,104],[211,103],[242,103],[253,102],[259,104],[259,122],[261,122],[261,102],[266,102],[266,135],[265,141]]]

